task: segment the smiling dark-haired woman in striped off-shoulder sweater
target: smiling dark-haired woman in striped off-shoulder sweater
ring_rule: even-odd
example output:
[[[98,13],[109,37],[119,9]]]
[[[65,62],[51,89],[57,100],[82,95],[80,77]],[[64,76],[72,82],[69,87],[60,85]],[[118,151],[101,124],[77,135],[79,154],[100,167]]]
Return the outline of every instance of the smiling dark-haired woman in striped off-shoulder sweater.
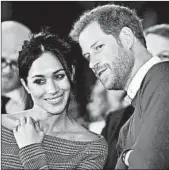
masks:
[[[42,31],[19,53],[30,110],[2,116],[2,169],[102,169],[107,144],[67,113],[73,80],[69,46]]]

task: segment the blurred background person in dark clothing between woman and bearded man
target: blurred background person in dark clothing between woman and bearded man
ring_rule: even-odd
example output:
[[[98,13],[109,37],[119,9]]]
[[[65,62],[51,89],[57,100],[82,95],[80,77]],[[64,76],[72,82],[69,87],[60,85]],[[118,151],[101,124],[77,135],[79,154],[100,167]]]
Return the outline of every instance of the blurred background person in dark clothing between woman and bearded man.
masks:
[[[108,143],[108,157],[104,170],[114,169],[118,159],[118,135],[134,108],[127,100],[124,90],[107,90],[99,80],[92,89],[91,101],[87,108],[93,120],[89,123],[89,130],[104,136]]]

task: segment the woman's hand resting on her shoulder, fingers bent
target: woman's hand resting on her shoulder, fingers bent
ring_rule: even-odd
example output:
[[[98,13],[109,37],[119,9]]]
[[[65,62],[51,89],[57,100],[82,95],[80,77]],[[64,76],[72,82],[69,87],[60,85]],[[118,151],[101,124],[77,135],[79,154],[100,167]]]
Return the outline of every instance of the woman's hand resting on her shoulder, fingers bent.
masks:
[[[44,132],[31,117],[21,117],[20,123],[13,129],[13,133],[19,148],[41,143],[44,138]]]

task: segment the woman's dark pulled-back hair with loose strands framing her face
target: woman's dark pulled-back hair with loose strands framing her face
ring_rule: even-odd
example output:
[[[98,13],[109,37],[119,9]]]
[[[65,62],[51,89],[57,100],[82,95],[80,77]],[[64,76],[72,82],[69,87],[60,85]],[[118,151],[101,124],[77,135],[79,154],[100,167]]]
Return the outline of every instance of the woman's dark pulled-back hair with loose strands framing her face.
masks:
[[[40,33],[32,34],[29,40],[24,41],[18,57],[20,78],[27,83],[28,73],[33,62],[45,52],[49,52],[58,58],[72,86],[71,77],[74,60],[70,55],[70,45],[57,35],[50,33],[48,28],[42,29]]]

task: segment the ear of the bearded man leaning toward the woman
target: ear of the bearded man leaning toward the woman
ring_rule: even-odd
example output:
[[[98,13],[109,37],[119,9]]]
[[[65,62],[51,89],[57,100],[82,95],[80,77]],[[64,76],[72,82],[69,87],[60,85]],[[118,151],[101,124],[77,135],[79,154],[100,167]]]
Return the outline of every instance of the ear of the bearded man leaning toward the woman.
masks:
[[[134,44],[134,34],[128,27],[123,27],[120,31],[119,38],[124,47],[130,49]]]

